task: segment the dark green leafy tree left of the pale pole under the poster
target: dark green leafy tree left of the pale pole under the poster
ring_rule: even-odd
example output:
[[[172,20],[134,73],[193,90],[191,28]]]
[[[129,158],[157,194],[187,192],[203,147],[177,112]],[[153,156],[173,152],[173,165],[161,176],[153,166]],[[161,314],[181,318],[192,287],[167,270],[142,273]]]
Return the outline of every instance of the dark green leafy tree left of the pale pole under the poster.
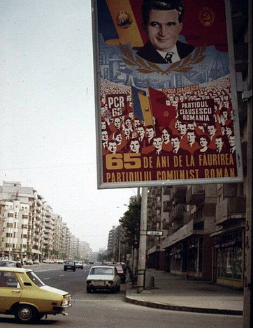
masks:
[[[129,204],[128,210],[119,220],[125,230],[125,241],[129,248],[138,248],[140,239],[141,198]]]

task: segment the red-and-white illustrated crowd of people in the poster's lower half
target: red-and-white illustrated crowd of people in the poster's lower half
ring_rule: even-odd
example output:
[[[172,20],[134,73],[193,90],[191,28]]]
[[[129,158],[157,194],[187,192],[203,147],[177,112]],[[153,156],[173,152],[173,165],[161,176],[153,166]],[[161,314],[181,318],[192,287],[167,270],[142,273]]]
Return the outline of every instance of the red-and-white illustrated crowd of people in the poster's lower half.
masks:
[[[103,155],[140,153],[143,155],[195,155],[229,154],[235,152],[236,138],[233,125],[229,78],[198,87],[194,91],[164,89],[166,104],[173,107],[175,117],[166,124],[159,124],[152,117],[152,124],[136,115],[131,87],[101,82],[101,141]],[[117,108],[117,115],[108,109],[107,95],[125,94],[127,102]],[[178,110],[180,103],[213,100],[210,121],[182,121]],[[210,116],[209,116],[210,117]]]

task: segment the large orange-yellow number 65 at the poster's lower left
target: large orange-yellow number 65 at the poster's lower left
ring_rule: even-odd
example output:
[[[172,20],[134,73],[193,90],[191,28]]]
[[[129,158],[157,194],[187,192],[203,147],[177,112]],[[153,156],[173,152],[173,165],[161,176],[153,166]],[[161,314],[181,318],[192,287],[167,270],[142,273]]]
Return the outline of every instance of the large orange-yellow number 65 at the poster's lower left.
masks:
[[[107,154],[106,169],[107,170],[122,170],[140,169],[141,159],[140,154]]]

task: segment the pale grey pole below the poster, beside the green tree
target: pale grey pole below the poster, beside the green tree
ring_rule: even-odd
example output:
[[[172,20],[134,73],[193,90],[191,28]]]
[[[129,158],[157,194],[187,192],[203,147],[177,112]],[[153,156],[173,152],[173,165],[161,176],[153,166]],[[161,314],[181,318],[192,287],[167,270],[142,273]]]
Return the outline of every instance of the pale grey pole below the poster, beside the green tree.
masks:
[[[140,244],[138,256],[137,292],[144,290],[146,269],[146,242],[147,242],[147,187],[142,189],[140,211]]]

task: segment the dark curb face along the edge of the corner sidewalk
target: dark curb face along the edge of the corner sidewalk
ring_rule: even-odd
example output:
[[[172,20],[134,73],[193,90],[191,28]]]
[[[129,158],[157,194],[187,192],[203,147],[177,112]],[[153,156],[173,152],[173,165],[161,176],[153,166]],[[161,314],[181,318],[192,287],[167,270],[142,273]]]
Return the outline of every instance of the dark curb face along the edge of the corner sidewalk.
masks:
[[[212,313],[212,314],[226,314],[226,315],[243,315],[243,311],[240,310],[225,310],[218,308],[194,308],[191,306],[178,306],[171,304],[162,304],[152,301],[140,301],[138,299],[131,299],[125,295],[125,301],[131,304],[136,304],[140,306],[147,306],[150,308],[160,308],[162,310],[171,310],[171,311],[184,311],[184,312],[196,312],[196,313]]]

